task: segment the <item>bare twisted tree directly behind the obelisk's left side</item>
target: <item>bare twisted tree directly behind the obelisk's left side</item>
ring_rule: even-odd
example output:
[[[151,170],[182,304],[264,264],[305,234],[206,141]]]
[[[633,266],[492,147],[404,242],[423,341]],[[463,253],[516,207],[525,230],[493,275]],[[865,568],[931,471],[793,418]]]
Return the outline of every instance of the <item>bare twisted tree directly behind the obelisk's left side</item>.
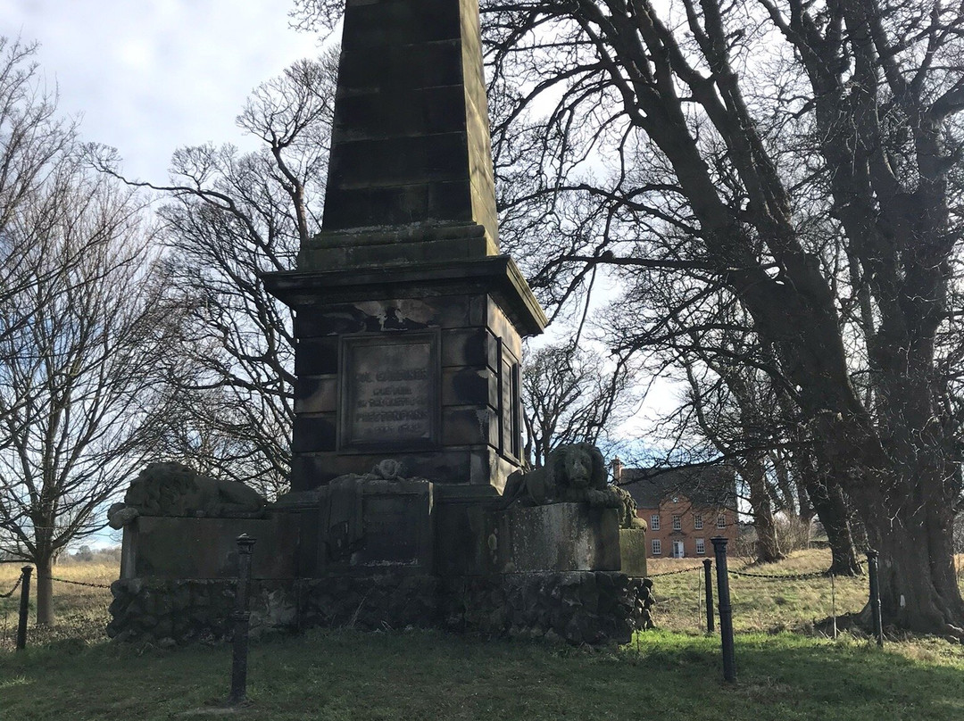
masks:
[[[172,184],[150,185],[171,198],[166,303],[185,320],[165,452],[269,496],[290,463],[294,336],[291,310],[259,278],[291,270],[320,227],[336,69],[329,52],[254,90],[237,121],[260,149],[183,147]]]

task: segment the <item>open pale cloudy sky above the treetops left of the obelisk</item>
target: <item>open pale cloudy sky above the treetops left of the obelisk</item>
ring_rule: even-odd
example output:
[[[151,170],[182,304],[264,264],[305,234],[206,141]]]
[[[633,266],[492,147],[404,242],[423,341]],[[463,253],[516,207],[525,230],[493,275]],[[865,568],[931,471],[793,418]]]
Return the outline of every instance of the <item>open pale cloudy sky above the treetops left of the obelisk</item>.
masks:
[[[248,93],[316,37],[288,28],[289,0],[0,0],[0,35],[39,40],[40,69],[85,141],[117,147],[124,173],[165,181],[175,147],[243,145]]]

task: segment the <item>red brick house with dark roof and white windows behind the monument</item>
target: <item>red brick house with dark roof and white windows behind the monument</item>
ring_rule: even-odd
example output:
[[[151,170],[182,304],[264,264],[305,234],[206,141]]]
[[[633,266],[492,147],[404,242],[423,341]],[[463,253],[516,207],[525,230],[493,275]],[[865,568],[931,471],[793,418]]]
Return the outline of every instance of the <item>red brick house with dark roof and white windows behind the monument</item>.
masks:
[[[617,458],[613,476],[629,491],[646,521],[647,558],[711,557],[713,536],[730,540],[738,531],[736,472],[730,466],[673,470],[624,468]]]

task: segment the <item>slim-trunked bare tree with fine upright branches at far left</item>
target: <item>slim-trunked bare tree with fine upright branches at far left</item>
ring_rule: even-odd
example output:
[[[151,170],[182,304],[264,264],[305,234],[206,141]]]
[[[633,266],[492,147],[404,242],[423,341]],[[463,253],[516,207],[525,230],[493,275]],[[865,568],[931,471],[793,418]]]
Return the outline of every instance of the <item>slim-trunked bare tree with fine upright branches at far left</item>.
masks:
[[[169,342],[144,206],[92,174],[39,90],[33,48],[0,40],[0,551],[51,565],[151,445]]]

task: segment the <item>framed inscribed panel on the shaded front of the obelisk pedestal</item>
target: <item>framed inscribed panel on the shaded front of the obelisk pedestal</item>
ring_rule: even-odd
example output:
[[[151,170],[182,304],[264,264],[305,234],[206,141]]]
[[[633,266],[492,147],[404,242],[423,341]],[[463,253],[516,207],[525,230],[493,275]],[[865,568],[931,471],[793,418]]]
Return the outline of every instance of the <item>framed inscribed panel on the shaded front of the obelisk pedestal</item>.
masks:
[[[438,443],[438,332],[344,335],[340,355],[339,450]]]

